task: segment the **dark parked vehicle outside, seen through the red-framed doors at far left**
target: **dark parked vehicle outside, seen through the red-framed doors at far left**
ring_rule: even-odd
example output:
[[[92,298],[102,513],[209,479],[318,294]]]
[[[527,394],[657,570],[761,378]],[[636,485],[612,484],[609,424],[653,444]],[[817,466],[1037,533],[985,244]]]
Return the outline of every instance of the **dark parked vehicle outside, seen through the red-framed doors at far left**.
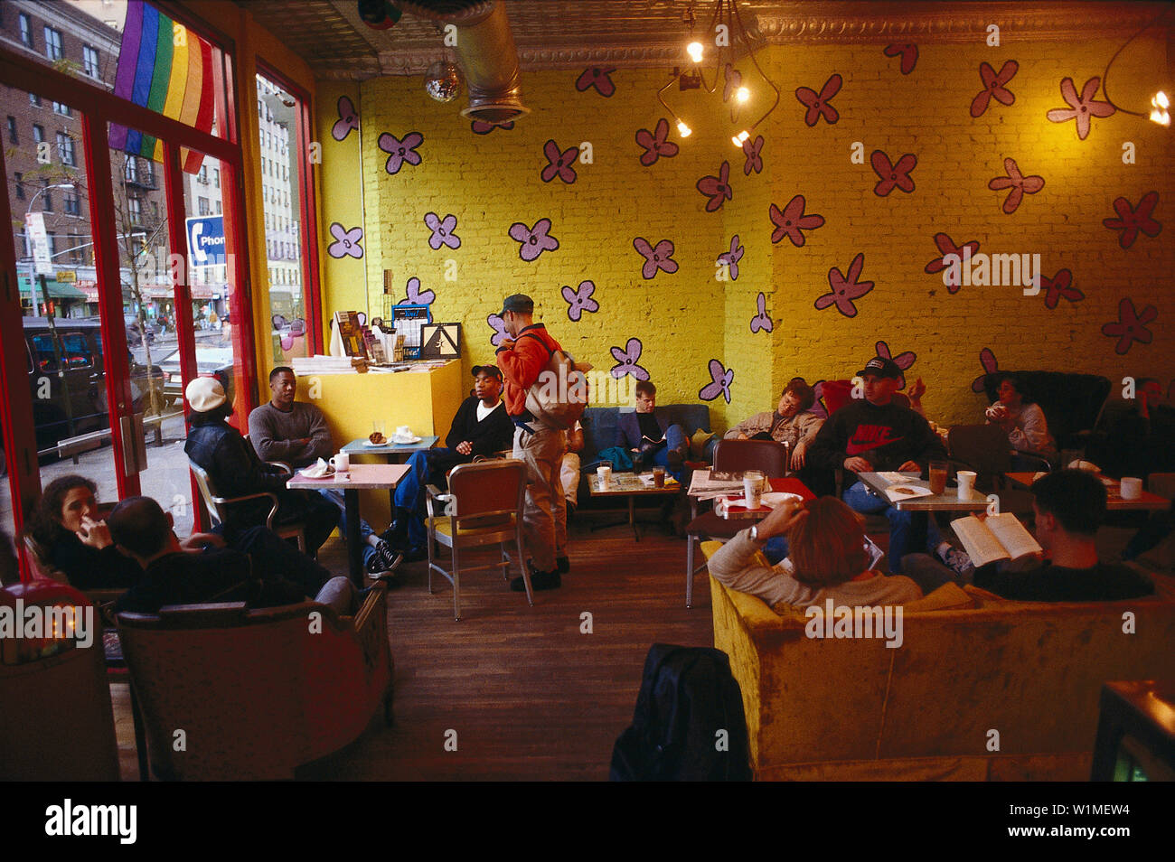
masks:
[[[36,447],[51,449],[67,437],[108,429],[100,321],[54,318],[51,326],[43,317],[26,317],[24,325]],[[153,388],[162,405],[162,370],[135,362],[129,350],[127,359],[134,411],[149,412]]]

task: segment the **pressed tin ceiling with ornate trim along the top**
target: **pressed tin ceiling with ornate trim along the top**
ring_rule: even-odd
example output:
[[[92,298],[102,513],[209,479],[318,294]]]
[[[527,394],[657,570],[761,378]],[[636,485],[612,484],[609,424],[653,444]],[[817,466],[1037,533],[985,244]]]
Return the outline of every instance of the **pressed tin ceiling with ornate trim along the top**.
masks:
[[[503,0],[499,0],[503,1]],[[523,70],[686,62],[693,7],[699,35],[713,0],[504,0]],[[389,29],[360,20],[355,0],[237,0],[324,79],[418,75],[446,55],[441,26],[405,13]],[[986,38],[1127,38],[1160,2],[866,2],[739,0],[754,47],[790,43],[965,42]]]

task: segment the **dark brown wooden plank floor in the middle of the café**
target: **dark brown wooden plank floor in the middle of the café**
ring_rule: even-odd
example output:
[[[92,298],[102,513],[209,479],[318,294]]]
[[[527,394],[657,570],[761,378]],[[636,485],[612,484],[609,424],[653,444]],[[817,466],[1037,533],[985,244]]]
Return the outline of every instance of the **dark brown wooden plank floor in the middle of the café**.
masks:
[[[604,780],[616,738],[632,721],[645,653],[654,642],[713,646],[710,587],[703,572],[685,607],[685,541],[653,523],[589,532],[571,528],[571,572],[559,590],[512,593],[502,575],[462,579],[462,620],[441,577],[402,567],[389,592],[388,631],[396,664],[396,725],[377,721],[348,749],[300,770],[327,780]],[[489,557],[482,558],[488,560]],[[323,548],[345,567],[337,540]],[[482,561],[481,559],[478,561]],[[580,633],[591,614],[591,634]],[[123,780],[137,780],[125,686],[115,686]],[[456,732],[457,750],[445,750]],[[450,745],[451,747],[451,745]]]

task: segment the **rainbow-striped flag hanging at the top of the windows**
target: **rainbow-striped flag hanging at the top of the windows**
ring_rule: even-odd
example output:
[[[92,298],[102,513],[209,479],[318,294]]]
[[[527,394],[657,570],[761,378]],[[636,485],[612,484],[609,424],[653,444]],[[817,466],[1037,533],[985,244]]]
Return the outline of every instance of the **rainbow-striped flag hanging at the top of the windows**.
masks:
[[[114,95],[210,134],[220,80],[212,45],[143,0],[127,4]],[[110,147],[163,161],[161,141],[118,123],[110,123]],[[187,148],[180,151],[189,174],[200,170],[203,159]]]

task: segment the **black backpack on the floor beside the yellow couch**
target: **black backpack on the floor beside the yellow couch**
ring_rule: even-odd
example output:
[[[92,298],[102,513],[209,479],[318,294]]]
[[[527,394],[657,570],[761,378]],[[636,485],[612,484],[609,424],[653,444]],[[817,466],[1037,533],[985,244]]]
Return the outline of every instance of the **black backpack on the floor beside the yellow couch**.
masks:
[[[612,748],[609,779],[751,780],[743,694],[726,653],[650,647],[632,725]]]

